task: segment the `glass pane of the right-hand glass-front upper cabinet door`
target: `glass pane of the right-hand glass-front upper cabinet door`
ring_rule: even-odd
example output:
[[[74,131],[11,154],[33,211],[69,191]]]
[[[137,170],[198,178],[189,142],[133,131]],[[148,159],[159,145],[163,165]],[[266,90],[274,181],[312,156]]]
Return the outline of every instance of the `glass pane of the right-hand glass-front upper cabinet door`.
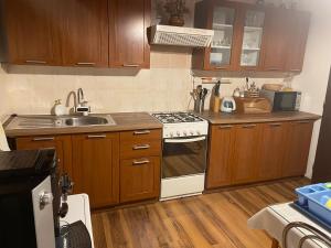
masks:
[[[241,54],[241,67],[257,67],[259,65],[264,24],[264,11],[246,11]]]

